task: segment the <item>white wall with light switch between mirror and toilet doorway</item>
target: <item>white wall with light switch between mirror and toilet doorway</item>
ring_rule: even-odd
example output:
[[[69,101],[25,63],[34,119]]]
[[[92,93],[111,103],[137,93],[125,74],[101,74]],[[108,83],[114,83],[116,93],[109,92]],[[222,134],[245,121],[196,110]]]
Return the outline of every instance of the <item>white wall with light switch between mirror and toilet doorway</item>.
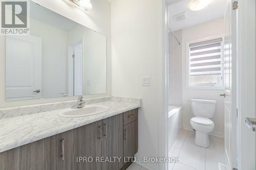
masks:
[[[116,0],[111,5],[112,94],[141,98],[136,157],[159,154],[159,115],[162,112],[162,2]],[[151,86],[142,77],[151,76]],[[157,163],[143,163],[158,169]]]

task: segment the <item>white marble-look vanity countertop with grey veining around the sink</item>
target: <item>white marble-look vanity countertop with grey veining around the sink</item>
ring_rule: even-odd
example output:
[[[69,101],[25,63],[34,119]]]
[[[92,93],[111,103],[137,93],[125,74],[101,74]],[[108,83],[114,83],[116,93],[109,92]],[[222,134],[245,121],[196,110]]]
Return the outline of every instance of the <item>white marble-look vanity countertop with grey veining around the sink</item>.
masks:
[[[140,107],[140,102],[107,101],[93,105],[109,106],[106,112],[79,118],[59,118],[65,109],[0,119],[0,153],[49,136]]]

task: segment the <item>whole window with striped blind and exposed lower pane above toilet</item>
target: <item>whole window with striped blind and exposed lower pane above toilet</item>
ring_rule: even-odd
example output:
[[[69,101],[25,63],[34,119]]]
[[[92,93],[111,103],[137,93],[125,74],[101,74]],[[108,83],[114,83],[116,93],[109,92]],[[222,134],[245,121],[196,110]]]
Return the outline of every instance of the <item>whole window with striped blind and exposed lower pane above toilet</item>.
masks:
[[[222,38],[189,44],[189,87],[223,88]]]

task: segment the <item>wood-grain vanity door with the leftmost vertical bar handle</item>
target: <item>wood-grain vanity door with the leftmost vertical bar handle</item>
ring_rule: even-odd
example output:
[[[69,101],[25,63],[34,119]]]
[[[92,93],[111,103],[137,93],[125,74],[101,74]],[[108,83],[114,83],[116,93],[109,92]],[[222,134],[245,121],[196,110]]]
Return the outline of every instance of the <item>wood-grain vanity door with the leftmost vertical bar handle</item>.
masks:
[[[65,170],[65,133],[60,133],[45,139],[42,139],[42,169],[43,170]],[[62,153],[64,155],[62,155]]]

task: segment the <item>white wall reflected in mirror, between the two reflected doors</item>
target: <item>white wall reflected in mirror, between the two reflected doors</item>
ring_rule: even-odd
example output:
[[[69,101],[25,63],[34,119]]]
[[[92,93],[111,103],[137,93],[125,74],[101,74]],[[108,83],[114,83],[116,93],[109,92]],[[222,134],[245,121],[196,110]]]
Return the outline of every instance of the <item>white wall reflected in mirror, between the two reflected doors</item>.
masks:
[[[42,38],[42,98],[57,98],[67,92],[67,32],[36,19],[30,26],[30,34]]]

